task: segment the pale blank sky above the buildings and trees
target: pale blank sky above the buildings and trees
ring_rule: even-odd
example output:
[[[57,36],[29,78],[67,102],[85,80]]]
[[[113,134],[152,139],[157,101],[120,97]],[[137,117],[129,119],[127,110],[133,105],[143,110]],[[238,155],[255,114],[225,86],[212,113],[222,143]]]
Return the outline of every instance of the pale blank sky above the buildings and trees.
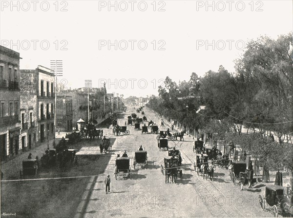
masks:
[[[0,44],[20,69],[63,61],[67,89],[104,82],[108,93],[158,94],[223,65],[234,72],[248,40],[293,31],[292,0],[0,1]]]

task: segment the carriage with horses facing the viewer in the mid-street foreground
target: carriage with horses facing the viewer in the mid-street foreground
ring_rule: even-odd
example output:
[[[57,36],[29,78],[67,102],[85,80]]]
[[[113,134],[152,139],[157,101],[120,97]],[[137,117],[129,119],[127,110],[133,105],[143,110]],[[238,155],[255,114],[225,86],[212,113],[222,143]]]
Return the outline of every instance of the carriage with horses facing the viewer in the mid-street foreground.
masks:
[[[178,158],[164,158],[164,166],[161,164],[161,172],[165,175],[165,183],[169,182],[170,177],[172,177],[172,183],[173,181],[176,183],[177,177],[182,178],[180,165]]]

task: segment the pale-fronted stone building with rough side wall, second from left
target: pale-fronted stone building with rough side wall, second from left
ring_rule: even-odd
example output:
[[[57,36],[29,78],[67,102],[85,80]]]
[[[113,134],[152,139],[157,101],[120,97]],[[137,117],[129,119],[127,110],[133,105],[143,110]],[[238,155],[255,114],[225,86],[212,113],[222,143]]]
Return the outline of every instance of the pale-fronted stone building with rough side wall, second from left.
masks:
[[[21,87],[21,120],[23,117],[22,123],[29,123],[21,135],[30,147],[55,137],[55,75],[39,65],[35,70],[21,70],[21,76],[21,83],[30,87]]]

